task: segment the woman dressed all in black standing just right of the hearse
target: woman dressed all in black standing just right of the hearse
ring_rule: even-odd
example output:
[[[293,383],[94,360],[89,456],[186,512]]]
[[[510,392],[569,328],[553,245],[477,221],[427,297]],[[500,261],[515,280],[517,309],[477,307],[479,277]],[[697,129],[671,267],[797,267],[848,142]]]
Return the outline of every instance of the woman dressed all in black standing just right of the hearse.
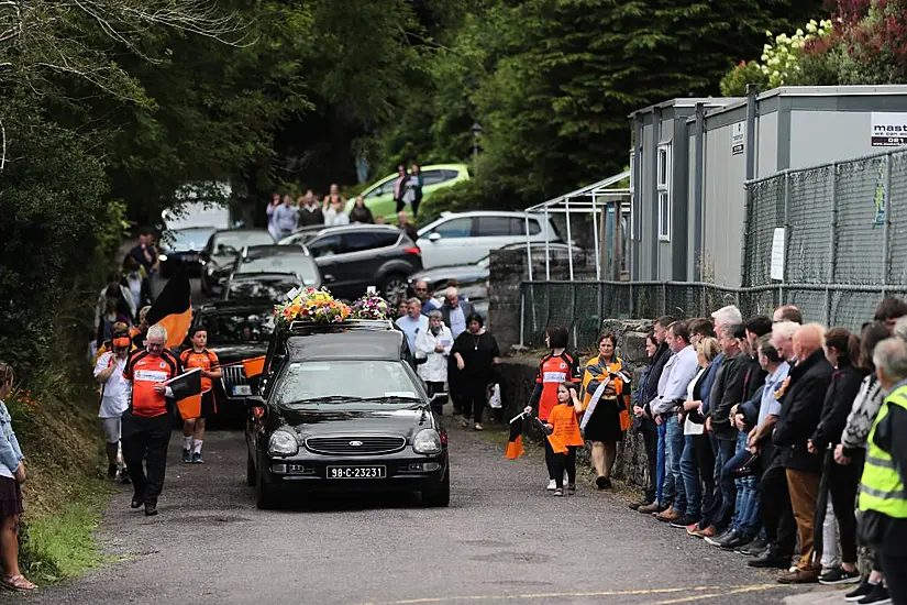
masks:
[[[495,382],[500,363],[498,341],[484,326],[480,315],[471,314],[466,318],[466,331],[456,337],[451,349],[463,381],[463,427],[469,426],[472,413],[475,430],[482,430],[486,389]]]

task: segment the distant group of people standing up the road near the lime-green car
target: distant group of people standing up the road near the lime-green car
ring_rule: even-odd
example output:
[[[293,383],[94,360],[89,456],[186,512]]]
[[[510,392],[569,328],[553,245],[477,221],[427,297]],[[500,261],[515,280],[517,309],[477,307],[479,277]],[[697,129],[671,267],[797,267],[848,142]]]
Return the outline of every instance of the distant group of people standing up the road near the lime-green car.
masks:
[[[413,164],[408,172],[406,166],[397,167],[397,178],[394,180],[394,201],[397,206],[398,227],[414,231],[409,222],[406,209],[409,208],[413,219],[419,215],[419,205],[422,201],[422,173],[418,164]],[[346,212],[346,198],[340,194],[340,188],[331,185],[330,193],[319,201],[314,191],[309,189],[295,202],[289,194],[274,194],[267,206],[268,232],[275,241],[280,240],[303,227],[340,227],[352,223],[384,224],[383,216],[373,216],[365,205],[363,196],[356,197],[353,208]],[[409,228],[409,229],[407,229]],[[410,235],[411,237],[411,235]],[[416,238],[411,239],[416,241]]]

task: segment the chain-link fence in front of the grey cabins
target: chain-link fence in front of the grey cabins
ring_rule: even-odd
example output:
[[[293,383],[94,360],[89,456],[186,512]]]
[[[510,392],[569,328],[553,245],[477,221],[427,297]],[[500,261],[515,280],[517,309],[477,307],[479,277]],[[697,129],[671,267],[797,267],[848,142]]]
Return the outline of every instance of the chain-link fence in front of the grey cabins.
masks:
[[[907,150],[752,182],[745,217],[741,288],[526,282],[523,342],[541,344],[545,327],[560,324],[588,346],[604,319],[707,317],[731,304],[744,316],[792,304],[809,321],[859,330],[882,298],[907,294]]]

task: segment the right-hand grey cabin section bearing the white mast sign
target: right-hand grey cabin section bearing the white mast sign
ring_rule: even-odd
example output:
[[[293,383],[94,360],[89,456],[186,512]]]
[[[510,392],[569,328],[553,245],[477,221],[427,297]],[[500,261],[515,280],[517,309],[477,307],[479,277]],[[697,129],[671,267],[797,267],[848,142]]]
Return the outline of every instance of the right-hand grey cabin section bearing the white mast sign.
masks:
[[[782,87],[753,95],[752,100],[707,110],[703,118],[703,162],[694,157],[688,176],[688,182],[695,183],[700,164],[701,200],[697,204],[693,187],[689,195],[690,206],[701,208],[698,217],[693,213],[690,224],[695,228],[697,218],[701,221],[703,263],[700,275],[696,275],[694,263],[687,263],[690,278],[731,287],[742,285],[743,185],[748,177],[762,178],[787,168],[859,157],[882,151],[878,145],[904,143],[896,136],[885,142],[880,133],[873,133],[873,113],[875,122],[882,123],[883,114],[888,112],[905,113],[903,123],[907,124],[907,86]],[[746,128],[750,123],[752,134]],[[687,120],[687,127],[688,147],[694,150],[695,116]]]

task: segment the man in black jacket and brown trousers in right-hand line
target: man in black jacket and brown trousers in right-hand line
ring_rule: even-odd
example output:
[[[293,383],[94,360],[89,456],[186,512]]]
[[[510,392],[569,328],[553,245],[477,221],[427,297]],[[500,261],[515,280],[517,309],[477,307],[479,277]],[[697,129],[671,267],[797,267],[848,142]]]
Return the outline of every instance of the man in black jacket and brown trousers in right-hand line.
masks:
[[[772,433],[772,442],[779,450],[781,464],[787,475],[800,537],[799,563],[795,571],[778,578],[784,584],[818,582],[821,571],[821,565],[812,560],[821,459],[809,452],[808,441],[819,425],[825,395],[834,372],[822,351],[823,336],[822,328],[815,324],[803,326],[794,334],[794,354],[798,362],[790,369],[790,382]]]

